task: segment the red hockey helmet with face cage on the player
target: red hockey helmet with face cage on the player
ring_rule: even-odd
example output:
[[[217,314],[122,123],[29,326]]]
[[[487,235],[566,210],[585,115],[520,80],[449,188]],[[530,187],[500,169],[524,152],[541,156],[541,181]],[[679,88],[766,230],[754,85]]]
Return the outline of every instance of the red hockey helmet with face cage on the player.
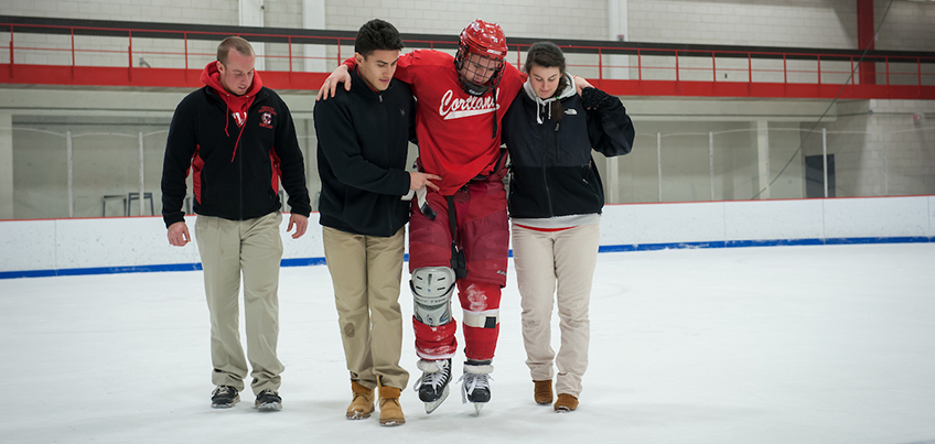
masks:
[[[474,20],[464,31],[454,56],[461,88],[472,96],[483,96],[496,87],[506,58],[506,36],[496,23]],[[487,77],[490,75],[490,77]]]

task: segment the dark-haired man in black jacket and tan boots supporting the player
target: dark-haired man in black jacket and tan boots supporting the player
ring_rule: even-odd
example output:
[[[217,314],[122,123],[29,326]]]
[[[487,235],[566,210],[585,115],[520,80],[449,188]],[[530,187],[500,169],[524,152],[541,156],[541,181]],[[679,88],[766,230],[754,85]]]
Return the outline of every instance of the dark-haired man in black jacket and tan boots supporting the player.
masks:
[[[409,220],[400,197],[423,186],[437,189],[430,181],[441,178],[405,171],[416,104],[409,86],[393,78],[401,48],[391,24],[364,24],[354,43],[351,90],[319,101],[314,111],[324,255],[353,391],[346,416],[369,418],[379,387],[384,425],[406,422],[399,392],[409,381],[399,366],[402,228]]]

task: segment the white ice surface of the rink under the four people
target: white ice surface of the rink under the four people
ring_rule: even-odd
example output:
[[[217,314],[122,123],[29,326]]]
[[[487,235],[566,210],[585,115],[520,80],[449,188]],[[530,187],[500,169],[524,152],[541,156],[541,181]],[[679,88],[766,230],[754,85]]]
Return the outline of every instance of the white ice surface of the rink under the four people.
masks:
[[[511,263],[493,400],[427,415],[407,388],[397,427],[344,419],[325,267],[282,269],[275,413],[249,389],[209,408],[201,272],[2,280],[0,443],[935,443],[933,270],[933,243],[600,255],[581,405],[557,414],[533,401]]]

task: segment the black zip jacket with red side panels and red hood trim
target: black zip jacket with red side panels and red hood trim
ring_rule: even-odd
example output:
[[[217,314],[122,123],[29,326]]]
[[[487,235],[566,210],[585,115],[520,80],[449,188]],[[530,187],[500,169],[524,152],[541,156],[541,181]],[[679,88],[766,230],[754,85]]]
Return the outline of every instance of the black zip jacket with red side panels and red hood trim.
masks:
[[[190,94],[175,108],[162,170],[165,226],[184,220],[181,208],[190,167],[196,214],[246,220],[276,212],[281,207],[277,194],[281,173],[292,213],[308,217],[312,208],[304,161],[292,115],[282,99],[260,88],[243,131],[228,112],[209,86]]]

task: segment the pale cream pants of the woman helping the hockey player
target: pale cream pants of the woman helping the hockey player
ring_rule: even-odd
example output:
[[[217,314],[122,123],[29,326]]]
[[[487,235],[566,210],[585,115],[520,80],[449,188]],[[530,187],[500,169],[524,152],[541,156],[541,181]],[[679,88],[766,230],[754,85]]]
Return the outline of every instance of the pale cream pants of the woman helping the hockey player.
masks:
[[[600,226],[544,232],[513,226],[513,260],[523,307],[523,342],[533,380],[556,380],[556,392],[576,398],[588,369],[588,306],[598,262]],[[558,292],[556,292],[558,283]],[[557,297],[556,297],[557,294]],[[558,301],[561,347],[551,347],[552,305]],[[554,378],[554,364],[558,377]]]

